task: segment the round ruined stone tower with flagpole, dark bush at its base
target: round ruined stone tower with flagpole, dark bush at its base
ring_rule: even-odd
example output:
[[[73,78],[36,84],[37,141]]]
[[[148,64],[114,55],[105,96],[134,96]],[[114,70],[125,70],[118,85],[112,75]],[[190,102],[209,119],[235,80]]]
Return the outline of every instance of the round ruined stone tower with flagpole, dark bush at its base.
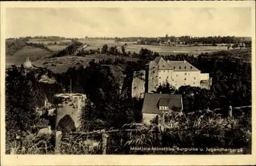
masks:
[[[58,94],[55,97],[62,99],[56,111],[56,127],[58,122],[69,115],[75,123],[76,130],[80,129],[80,115],[83,107],[85,106],[85,94]]]

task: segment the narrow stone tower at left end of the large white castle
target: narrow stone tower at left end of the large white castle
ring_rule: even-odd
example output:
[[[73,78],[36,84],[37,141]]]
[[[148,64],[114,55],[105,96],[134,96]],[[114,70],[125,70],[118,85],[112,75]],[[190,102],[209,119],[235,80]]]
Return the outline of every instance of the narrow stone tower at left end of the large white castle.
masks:
[[[146,64],[146,79],[145,79],[145,93],[152,93],[156,91],[158,85],[158,64],[151,61]]]

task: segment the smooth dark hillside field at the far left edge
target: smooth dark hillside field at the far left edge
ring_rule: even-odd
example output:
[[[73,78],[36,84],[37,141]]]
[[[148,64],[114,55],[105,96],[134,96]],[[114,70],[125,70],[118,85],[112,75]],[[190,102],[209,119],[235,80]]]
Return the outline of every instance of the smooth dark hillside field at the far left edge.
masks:
[[[32,62],[37,61],[49,54],[51,54],[51,52],[42,48],[24,46],[22,49],[15,52],[13,56],[6,56],[6,66],[21,65],[26,61],[27,57]]]

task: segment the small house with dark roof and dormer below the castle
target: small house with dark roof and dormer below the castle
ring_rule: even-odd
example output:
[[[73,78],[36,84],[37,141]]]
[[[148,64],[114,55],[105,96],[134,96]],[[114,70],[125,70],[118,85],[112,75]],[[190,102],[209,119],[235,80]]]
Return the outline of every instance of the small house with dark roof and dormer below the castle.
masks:
[[[179,94],[146,93],[142,107],[142,121],[150,124],[156,116],[163,121],[165,112],[181,112],[182,109],[182,96]]]

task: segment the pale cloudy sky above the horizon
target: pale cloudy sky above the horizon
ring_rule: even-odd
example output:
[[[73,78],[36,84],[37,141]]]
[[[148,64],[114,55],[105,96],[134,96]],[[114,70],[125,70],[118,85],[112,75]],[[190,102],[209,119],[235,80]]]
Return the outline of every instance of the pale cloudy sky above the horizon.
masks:
[[[250,8],[8,8],[6,37],[251,36]]]

